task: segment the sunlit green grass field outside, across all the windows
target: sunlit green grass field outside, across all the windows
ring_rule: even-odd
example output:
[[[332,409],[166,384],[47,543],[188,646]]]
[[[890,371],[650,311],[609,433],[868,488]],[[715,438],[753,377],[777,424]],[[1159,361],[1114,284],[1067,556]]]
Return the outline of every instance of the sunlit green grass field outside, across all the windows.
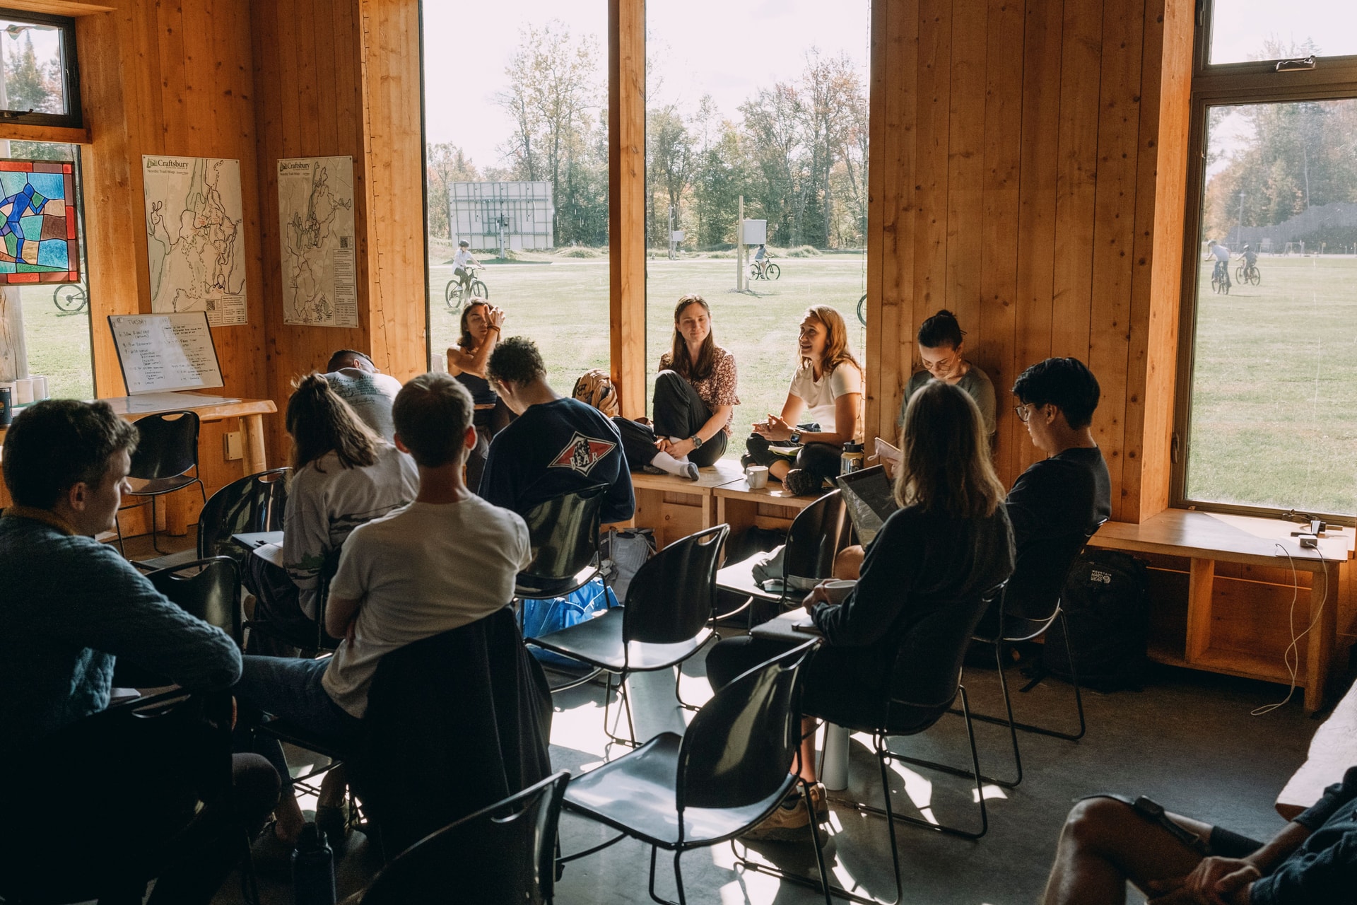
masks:
[[[782,278],[734,292],[734,261],[649,262],[646,361],[668,349],[673,305],[689,292],[712,307],[716,341],[734,353],[741,406],[730,455],[749,422],[780,411],[795,369],[801,312],[832,304],[863,358],[856,317],[862,255],[782,258]],[[1262,258],[1262,285],[1210,290],[1202,263],[1187,497],[1201,501],[1357,512],[1357,258]],[[490,266],[490,296],[509,320],[506,335],[541,346],[552,384],[569,392],[589,368],[608,366],[605,258]],[[430,274],[434,349],[456,339],[442,304],[452,267]],[[50,288],[22,289],[28,364],[54,396],[90,398],[90,319],[52,304]],[[649,385],[647,385],[649,391]]]

